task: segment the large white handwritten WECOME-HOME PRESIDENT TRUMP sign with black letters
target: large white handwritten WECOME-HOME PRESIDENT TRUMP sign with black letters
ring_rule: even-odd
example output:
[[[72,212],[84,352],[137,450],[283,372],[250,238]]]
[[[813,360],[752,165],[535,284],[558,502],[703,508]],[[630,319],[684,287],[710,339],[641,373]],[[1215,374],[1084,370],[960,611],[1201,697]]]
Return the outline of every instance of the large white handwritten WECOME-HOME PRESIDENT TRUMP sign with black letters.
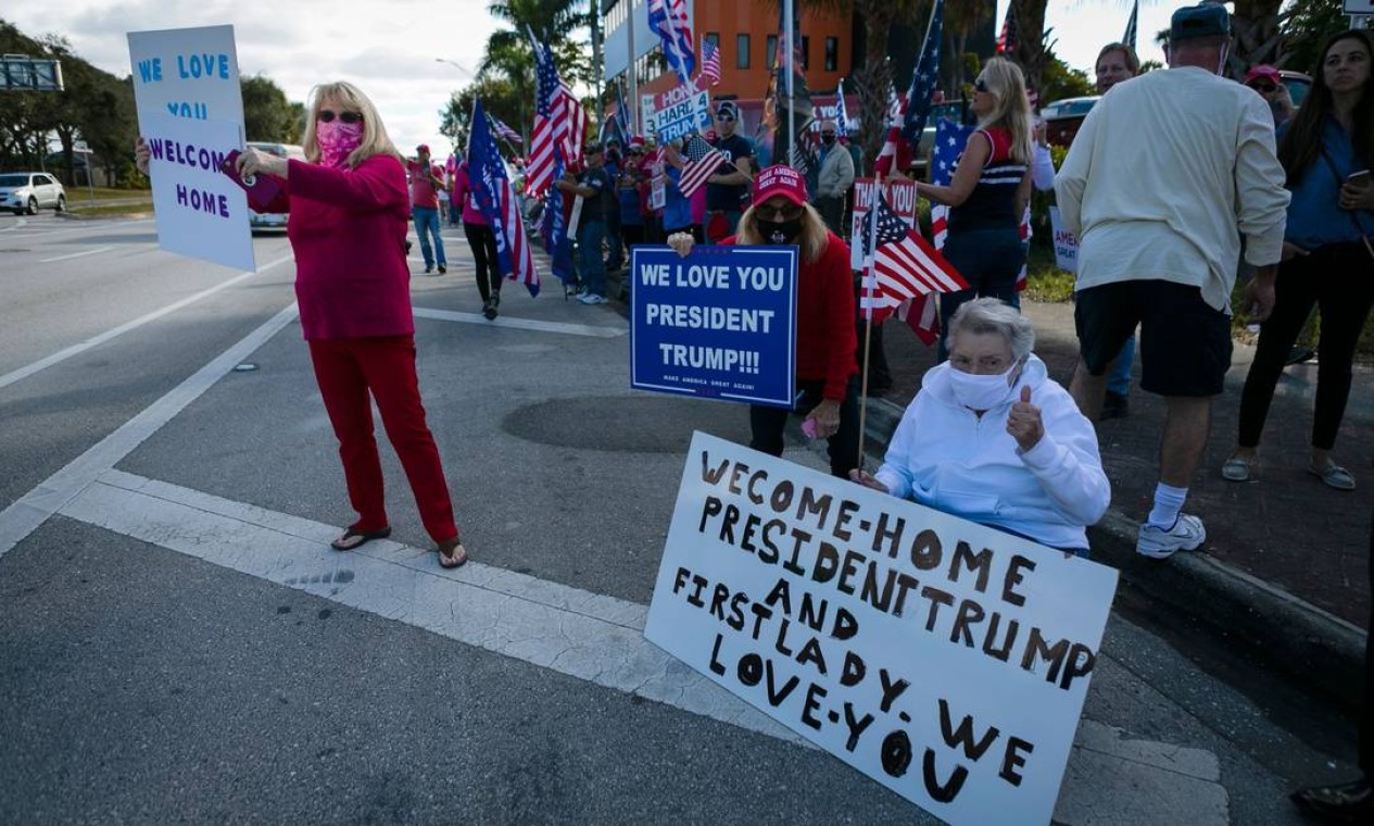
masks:
[[[949,823],[1048,823],[1116,581],[697,433],[644,636]]]

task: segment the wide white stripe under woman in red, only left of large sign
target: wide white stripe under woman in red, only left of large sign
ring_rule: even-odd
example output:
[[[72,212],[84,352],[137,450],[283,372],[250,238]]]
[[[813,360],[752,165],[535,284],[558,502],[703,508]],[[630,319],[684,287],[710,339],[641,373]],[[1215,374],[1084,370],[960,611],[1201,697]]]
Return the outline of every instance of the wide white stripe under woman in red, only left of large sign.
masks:
[[[644,639],[647,609],[374,542],[339,554],[338,528],[109,471],[59,511],[279,585],[331,599],[607,689],[796,744],[801,738]]]

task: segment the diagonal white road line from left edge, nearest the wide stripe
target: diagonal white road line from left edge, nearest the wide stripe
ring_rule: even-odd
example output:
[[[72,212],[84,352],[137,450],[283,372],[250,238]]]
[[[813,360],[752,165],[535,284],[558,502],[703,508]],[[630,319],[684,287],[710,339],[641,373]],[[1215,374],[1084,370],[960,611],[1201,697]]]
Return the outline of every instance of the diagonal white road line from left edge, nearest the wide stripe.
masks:
[[[157,433],[162,425],[170,422],[172,416],[181,412],[181,408],[195,401],[210,385],[234,370],[235,364],[243,361],[256,349],[262,346],[269,338],[293,322],[295,316],[295,304],[291,304],[229,349],[220,353],[209,364],[196,370],[180,385],[146,407],[139,415],[121,425],[118,430],[91,445],[63,469],[0,511],[0,557],[4,557],[10,548],[33,533],[38,525],[58,513],[63,504],[93,482],[98,476],[114,467],[117,462],[128,456],[146,438]]]

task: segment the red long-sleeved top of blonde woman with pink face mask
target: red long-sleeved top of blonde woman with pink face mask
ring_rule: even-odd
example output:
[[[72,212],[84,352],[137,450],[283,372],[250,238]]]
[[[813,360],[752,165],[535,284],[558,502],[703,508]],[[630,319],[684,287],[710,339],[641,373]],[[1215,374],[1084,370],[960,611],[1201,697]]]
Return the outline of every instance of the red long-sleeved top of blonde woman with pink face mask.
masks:
[[[401,162],[372,155],[357,169],[334,169],[290,161],[282,184],[271,206],[290,212],[286,231],[305,338],[412,335]]]

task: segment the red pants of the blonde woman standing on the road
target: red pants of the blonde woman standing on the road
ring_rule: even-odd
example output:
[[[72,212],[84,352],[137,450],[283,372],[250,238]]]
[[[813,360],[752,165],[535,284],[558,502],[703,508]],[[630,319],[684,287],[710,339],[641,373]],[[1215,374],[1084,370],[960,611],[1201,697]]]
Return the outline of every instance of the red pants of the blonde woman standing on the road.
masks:
[[[458,536],[438,448],[425,423],[425,405],[415,375],[415,337],[331,338],[311,341],[309,345],[315,381],[320,385],[324,408],[339,440],[349,502],[359,517],[352,526],[378,531],[390,525],[386,520],[382,460],[372,437],[371,394],[411,482],[425,531],[434,542]]]

